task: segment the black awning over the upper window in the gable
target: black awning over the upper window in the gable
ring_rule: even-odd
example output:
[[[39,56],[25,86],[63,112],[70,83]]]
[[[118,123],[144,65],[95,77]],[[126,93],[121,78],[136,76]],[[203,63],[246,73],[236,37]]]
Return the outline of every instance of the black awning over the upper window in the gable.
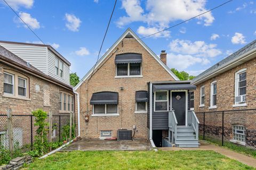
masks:
[[[121,63],[141,63],[142,62],[142,55],[137,53],[125,53],[125,54],[118,54],[115,58],[116,64]]]

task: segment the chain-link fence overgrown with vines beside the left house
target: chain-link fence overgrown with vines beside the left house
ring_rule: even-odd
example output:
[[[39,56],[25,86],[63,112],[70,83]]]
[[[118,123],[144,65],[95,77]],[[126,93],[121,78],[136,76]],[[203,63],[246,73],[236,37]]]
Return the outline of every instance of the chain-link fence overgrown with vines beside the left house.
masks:
[[[9,149],[9,145],[13,145],[14,149],[19,149],[21,152],[33,149],[37,129],[37,126],[34,125],[35,116],[31,114],[13,114],[11,117],[10,121],[7,114],[0,114],[0,146]],[[51,121],[51,141],[60,142],[63,126],[70,124],[70,114],[52,115]],[[47,122],[49,122],[49,115]],[[12,129],[11,137],[9,134],[10,126]],[[47,138],[50,139],[49,136]]]

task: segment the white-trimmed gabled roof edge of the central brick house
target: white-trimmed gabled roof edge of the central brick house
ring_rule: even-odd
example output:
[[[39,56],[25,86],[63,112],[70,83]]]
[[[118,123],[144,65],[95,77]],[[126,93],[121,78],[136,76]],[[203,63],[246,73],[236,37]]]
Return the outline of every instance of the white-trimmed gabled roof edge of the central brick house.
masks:
[[[95,65],[95,69],[97,70],[97,67],[105,60],[105,58],[116,48],[116,46],[125,38],[125,37],[133,37],[135,38],[140,45],[142,45],[142,47],[144,47],[147,52],[153,56],[155,58],[155,60],[173,77],[174,80],[179,80],[178,77],[176,77],[176,75],[169,69],[169,67],[167,67],[161,60],[160,58],[130,29],[128,28],[123,35],[113,44],[113,46],[111,46],[107,52],[100,58],[100,60],[96,63]],[[74,88],[75,90],[77,90],[77,88],[79,88],[81,86],[81,84],[87,79],[89,78],[89,76],[92,74],[93,71],[93,67],[92,69],[87,72],[87,74],[85,74],[85,76],[81,79],[81,81],[76,85],[76,87]]]

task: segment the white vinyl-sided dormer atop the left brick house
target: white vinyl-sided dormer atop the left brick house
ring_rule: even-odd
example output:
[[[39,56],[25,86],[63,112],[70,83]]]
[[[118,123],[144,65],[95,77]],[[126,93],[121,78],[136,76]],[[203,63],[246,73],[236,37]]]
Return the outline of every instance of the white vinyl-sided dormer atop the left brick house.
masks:
[[[69,84],[69,64],[62,60],[47,46],[1,42],[0,45],[10,50],[13,54],[19,56],[29,64],[36,67],[46,75],[57,79],[63,83]],[[63,77],[55,74],[55,58],[58,58],[63,63]]]

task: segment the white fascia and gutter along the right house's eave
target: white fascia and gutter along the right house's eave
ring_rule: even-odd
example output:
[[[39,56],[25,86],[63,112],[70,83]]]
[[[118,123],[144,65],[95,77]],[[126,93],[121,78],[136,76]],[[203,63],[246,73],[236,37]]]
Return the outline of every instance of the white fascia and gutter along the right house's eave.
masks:
[[[251,54],[250,54],[250,53],[251,53]],[[221,71],[224,70],[224,69],[228,69],[228,70],[233,69],[232,66],[233,66],[234,64],[241,62],[241,60],[244,60],[244,59],[247,58],[247,57],[251,57],[253,54],[256,54],[256,49],[255,49],[255,48],[252,49],[252,50],[250,50],[249,52],[247,52],[247,53],[241,55],[240,57],[236,58],[236,60],[232,60],[232,61],[230,61],[230,62],[228,62],[228,63],[226,63],[226,64],[223,64],[223,65],[220,66],[217,70],[214,70],[214,71],[211,72],[210,74],[206,74],[203,78],[198,79],[198,80],[196,80],[196,81],[192,81],[191,84],[197,85],[197,84],[202,83],[202,82],[204,82],[204,81],[206,81],[206,80],[209,80],[212,75],[214,75],[213,77],[215,77],[215,76],[219,75],[219,72],[221,72]],[[246,62],[246,61],[245,61],[245,62]],[[243,64],[243,63],[244,63],[244,62],[242,62],[241,64]],[[239,64],[239,65],[241,65],[241,64]]]

